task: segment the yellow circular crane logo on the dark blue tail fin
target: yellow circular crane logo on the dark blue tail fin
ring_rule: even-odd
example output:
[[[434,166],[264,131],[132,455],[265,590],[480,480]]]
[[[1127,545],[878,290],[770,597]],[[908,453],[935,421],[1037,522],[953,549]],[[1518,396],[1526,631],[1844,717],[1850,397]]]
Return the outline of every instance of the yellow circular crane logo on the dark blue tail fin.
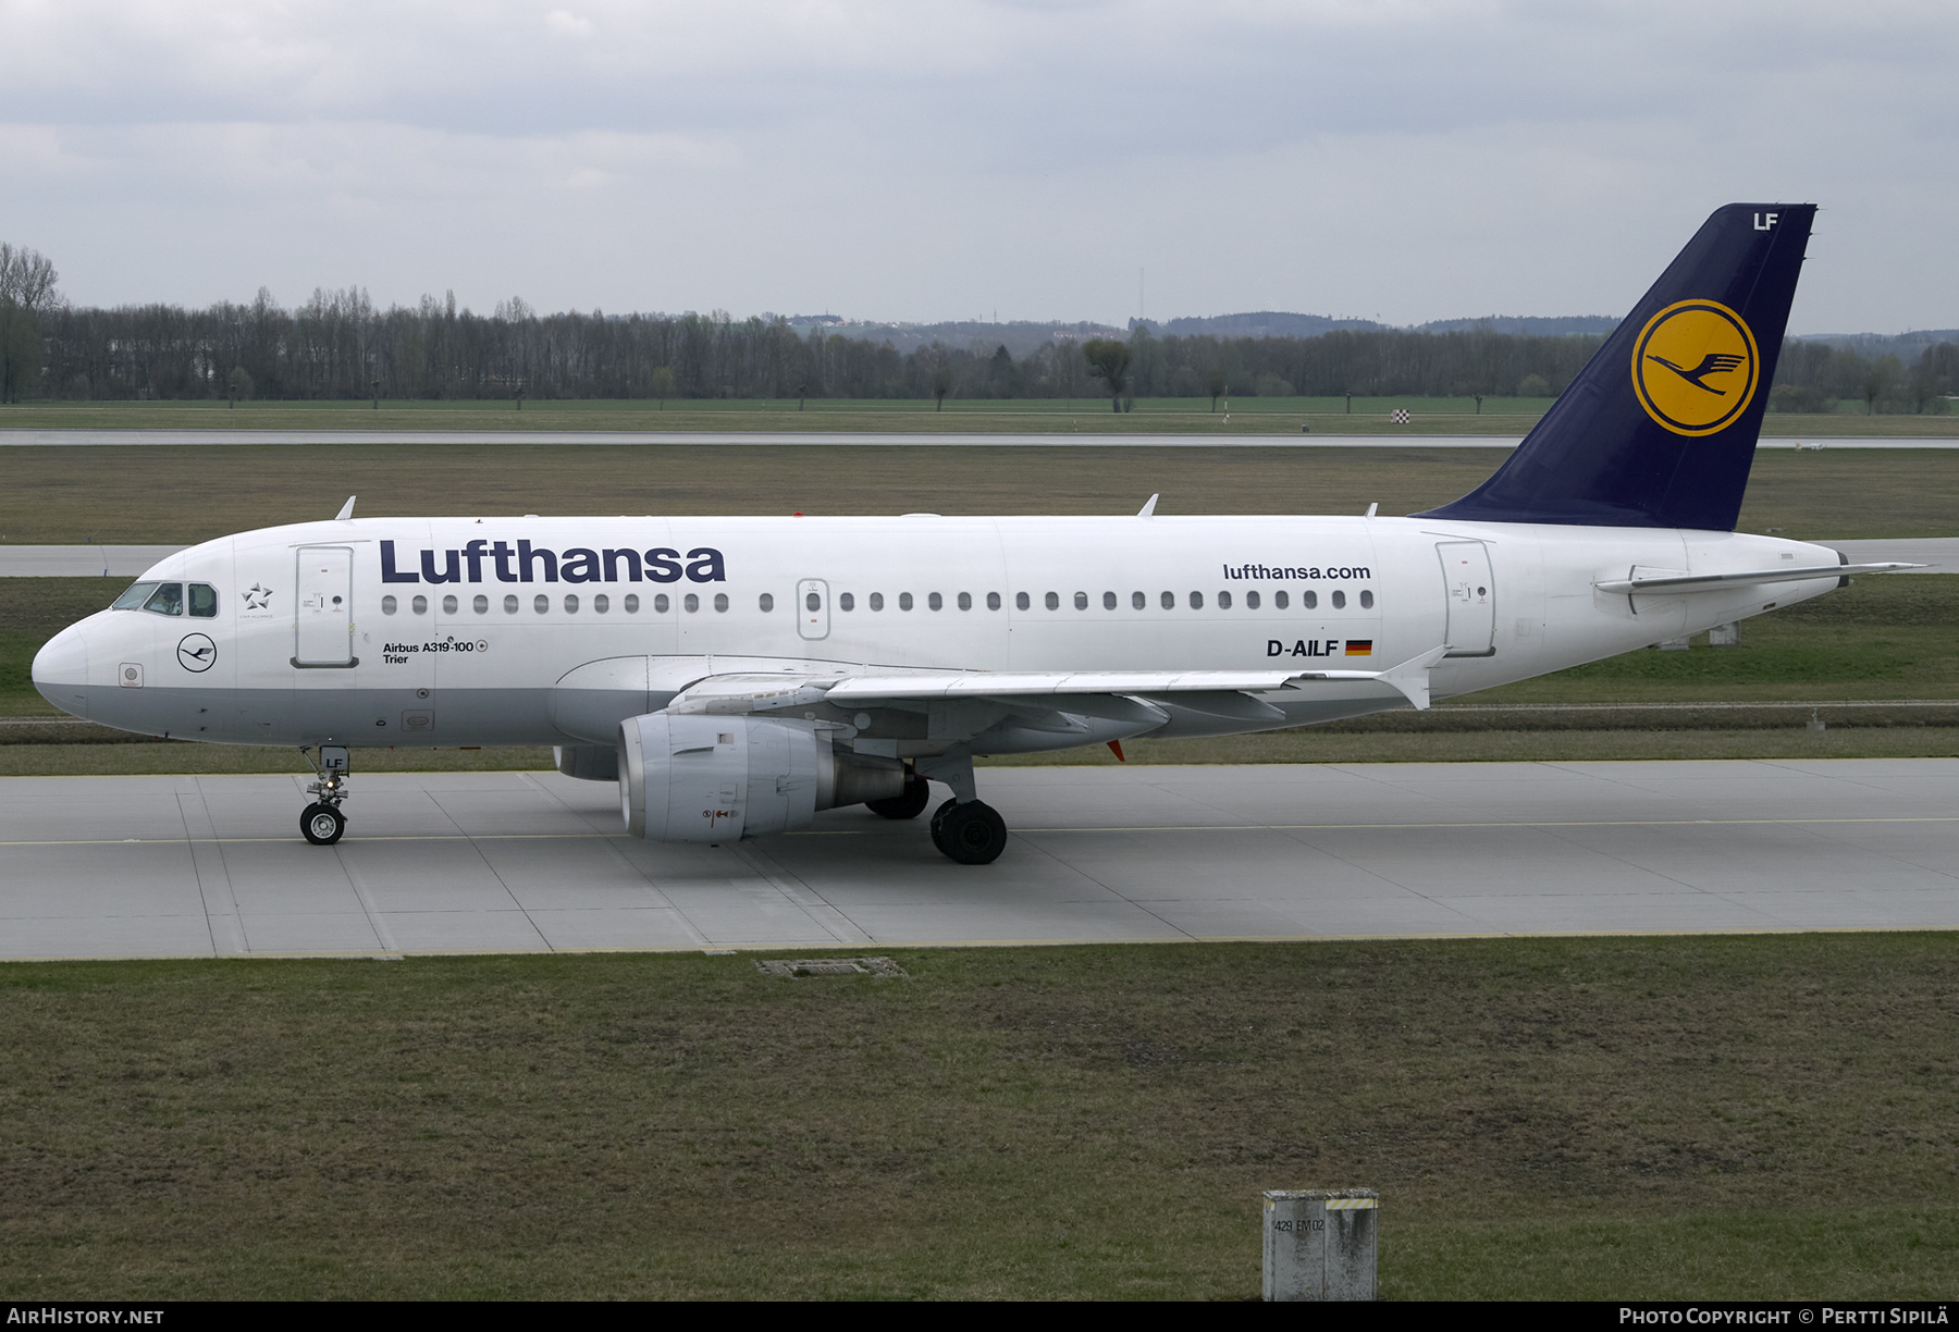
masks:
[[[1755,396],[1759,370],[1755,335],[1712,300],[1667,306],[1632,345],[1632,392],[1675,435],[1728,429]]]

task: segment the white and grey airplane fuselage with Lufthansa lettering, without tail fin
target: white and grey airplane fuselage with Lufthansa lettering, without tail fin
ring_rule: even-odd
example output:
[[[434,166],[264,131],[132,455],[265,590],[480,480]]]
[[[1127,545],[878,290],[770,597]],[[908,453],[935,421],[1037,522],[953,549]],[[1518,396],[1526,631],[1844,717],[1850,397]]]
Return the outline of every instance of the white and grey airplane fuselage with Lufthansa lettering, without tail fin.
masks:
[[[1385,670],[1448,644],[1430,672],[1444,697],[1838,580],[1691,595],[1595,582],[1836,558],[1740,533],[1385,517],[347,519],[170,556],[143,582],[208,586],[214,615],[102,611],[43,648],[35,684],[71,713],[145,735],[355,746],[611,744],[623,715],[664,707],[693,680],[795,662]],[[568,701],[580,668],[590,678],[621,658],[652,660],[645,688]],[[1381,690],[1264,699],[1285,719],[1179,713],[1170,727],[995,735],[985,748],[1407,705]],[[909,752],[932,742],[927,729]]]

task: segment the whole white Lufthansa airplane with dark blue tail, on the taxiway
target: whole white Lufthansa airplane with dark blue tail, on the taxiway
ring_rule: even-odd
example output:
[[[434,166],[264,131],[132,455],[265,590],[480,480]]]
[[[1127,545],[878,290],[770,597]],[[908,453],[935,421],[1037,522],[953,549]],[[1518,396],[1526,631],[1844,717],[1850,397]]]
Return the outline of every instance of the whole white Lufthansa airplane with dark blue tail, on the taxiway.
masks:
[[[33,660],[121,731],[550,744],[646,840],[866,805],[1007,846],[974,758],[1416,707],[1792,605],[1828,547],[1734,531],[1814,217],[1716,210],[1536,429],[1407,517],[353,517],[168,556]],[[1691,366],[1691,368],[1683,368]],[[313,758],[317,754],[317,758]]]

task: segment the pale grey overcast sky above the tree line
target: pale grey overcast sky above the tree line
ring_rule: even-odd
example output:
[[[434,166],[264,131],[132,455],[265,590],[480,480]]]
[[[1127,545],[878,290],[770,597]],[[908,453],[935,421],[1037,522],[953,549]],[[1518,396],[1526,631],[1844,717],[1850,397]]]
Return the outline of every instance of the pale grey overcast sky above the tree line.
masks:
[[[0,239],[76,304],[1622,313],[1745,200],[1822,206],[1794,331],[1959,325],[1951,0],[0,0]]]

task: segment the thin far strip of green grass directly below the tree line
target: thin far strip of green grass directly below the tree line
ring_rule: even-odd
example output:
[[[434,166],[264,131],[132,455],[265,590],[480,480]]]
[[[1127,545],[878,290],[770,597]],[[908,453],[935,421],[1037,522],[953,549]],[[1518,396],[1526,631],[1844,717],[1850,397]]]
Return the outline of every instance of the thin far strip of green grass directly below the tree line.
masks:
[[[925,433],[1203,433],[1297,435],[1311,425],[1328,435],[1522,435],[1552,405],[1550,398],[1232,398],[1211,409],[1209,398],[1138,398],[1132,411],[1111,411],[1107,398],[948,398],[931,400],[793,398],[774,400],[570,400],[525,402],[29,402],[0,407],[0,429],[313,429],[413,433],[449,431],[925,431]],[[1397,425],[1397,407],[1414,415]],[[1771,437],[1953,437],[1953,415],[1771,413]]]

